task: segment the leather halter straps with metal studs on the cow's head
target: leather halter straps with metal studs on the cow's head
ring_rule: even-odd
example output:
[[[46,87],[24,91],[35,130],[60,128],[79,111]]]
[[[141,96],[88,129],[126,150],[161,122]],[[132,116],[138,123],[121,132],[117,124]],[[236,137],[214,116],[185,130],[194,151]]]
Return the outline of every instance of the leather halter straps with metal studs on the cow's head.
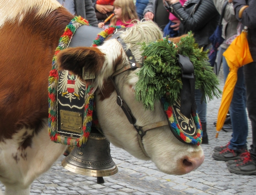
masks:
[[[117,31],[116,31],[117,32]],[[116,34],[116,32],[114,32],[114,34],[112,35],[112,37],[110,39],[116,39],[122,46],[122,49],[125,51],[125,54],[127,55],[128,59],[129,59],[129,65],[124,66],[122,69],[119,69],[117,71],[115,71],[112,75],[111,75],[111,82],[116,90],[116,103],[122,108],[123,112],[125,113],[126,117],[128,118],[129,122],[134,126],[134,129],[137,131],[138,133],[138,141],[140,144],[140,148],[142,149],[143,153],[145,156],[149,157],[148,154],[146,153],[143,143],[142,143],[142,138],[144,137],[144,135],[146,135],[146,132],[150,129],[155,129],[157,127],[161,127],[161,126],[166,126],[169,125],[167,120],[163,120],[160,122],[156,122],[156,123],[151,123],[149,125],[146,126],[137,126],[135,125],[136,123],[136,118],[134,117],[134,115],[131,113],[131,109],[128,107],[128,105],[125,103],[125,100],[123,100],[121,98],[120,92],[114,82],[114,77],[116,75],[119,75],[122,72],[125,72],[126,70],[136,70],[137,68],[141,68],[143,66],[143,64],[140,63],[136,63],[135,57],[132,54],[130,49],[124,49],[126,47],[126,44],[123,42],[123,40],[119,37],[119,34]]]

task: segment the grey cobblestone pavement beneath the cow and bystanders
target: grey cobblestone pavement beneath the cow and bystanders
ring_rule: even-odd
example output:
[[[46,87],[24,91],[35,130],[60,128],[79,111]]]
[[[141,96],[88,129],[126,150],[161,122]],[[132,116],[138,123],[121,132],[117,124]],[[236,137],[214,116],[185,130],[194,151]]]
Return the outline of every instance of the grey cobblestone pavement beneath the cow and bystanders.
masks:
[[[220,73],[221,89],[223,77]],[[141,161],[128,152],[111,146],[111,156],[119,172],[105,177],[104,184],[96,184],[95,177],[76,175],[62,168],[60,157],[52,168],[34,181],[31,195],[256,195],[256,175],[236,175],[227,170],[226,163],[212,158],[215,146],[226,145],[230,132],[221,131],[215,139],[215,126],[220,100],[207,107],[209,145],[202,145],[204,163],[186,175],[167,175],[157,170],[154,163]],[[251,127],[247,139],[252,143]],[[0,187],[4,187],[0,184]]]

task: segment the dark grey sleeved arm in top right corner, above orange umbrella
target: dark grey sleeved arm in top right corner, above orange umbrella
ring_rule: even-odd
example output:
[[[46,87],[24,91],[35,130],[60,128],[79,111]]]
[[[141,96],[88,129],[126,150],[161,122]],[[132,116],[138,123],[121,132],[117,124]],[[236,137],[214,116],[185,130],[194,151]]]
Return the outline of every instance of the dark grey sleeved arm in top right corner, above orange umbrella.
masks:
[[[245,0],[233,0],[233,5],[236,13],[236,18],[249,29],[256,28],[256,0],[249,1],[249,7],[244,9],[241,13],[241,18],[239,18],[239,11],[246,6]]]

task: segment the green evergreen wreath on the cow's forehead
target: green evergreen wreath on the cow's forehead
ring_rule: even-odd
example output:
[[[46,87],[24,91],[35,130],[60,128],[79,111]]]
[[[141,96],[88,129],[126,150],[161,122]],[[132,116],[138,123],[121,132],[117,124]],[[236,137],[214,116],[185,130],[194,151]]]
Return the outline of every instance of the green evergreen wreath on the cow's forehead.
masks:
[[[195,89],[201,89],[202,100],[220,97],[218,78],[209,66],[207,52],[198,48],[192,32],[182,37],[178,43],[168,39],[151,43],[141,43],[143,67],[137,72],[139,77],[135,87],[138,101],[145,109],[154,109],[154,102],[165,97],[172,105],[180,97],[182,72],[177,54],[189,57],[195,70]]]

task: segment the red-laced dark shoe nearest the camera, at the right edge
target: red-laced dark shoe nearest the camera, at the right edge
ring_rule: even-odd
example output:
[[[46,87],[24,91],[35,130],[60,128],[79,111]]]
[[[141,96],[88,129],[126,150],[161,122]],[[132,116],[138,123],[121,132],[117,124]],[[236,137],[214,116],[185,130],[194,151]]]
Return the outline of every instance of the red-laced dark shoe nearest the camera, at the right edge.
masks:
[[[249,153],[249,152],[248,152]],[[227,169],[236,174],[256,175],[256,163],[250,158],[250,153],[244,157],[242,163],[232,164]]]

